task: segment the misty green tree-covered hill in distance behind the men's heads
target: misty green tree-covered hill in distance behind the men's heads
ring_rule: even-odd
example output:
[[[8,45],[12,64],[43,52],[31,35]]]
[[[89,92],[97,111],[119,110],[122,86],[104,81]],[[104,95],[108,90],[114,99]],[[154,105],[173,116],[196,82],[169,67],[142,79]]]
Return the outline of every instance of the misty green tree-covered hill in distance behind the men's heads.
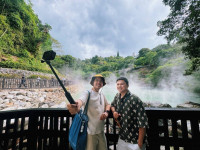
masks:
[[[108,79],[113,75],[137,76],[147,86],[163,88],[178,87],[200,93],[199,71],[188,74],[191,60],[181,52],[182,45],[158,45],[153,49],[142,48],[137,57],[94,56],[80,60],[70,55],[56,56],[52,64],[64,74],[80,75],[90,79],[93,74],[102,74]],[[67,69],[66,69],[67,68]]]

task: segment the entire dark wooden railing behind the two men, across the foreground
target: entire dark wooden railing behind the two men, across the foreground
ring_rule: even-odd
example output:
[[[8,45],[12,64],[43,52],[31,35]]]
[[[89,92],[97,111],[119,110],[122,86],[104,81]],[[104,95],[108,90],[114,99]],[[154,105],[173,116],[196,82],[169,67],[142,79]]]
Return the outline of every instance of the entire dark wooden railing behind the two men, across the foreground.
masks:
[[[199,150],[200,109],[146,108],[147,150]],[[71,149],[68,132],[72,116],[66,109],[0,111],[0,150]],[[109,148],[116,149],[118,129],[112,114],[106,120]]]

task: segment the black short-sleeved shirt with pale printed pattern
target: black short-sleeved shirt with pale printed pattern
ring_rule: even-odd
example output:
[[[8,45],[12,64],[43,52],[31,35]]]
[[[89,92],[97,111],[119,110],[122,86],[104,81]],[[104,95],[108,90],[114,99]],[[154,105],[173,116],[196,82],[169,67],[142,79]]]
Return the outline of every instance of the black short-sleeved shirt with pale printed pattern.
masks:
[[[111,107],[121,114],[119,137],[125,142],[138,143],[139,128],[147,128],[148,120],[143,103],[139,97],[131,94],[130,91],[121,99],[116,94]]]

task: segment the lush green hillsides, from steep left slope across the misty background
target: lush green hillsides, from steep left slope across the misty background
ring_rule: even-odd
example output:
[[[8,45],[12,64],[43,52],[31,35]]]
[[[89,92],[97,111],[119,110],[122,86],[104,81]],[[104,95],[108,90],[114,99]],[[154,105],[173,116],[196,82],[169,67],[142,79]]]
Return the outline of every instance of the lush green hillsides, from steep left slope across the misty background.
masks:
[[[31,3],[24,0],[0,1],[0,67],[51,73],[41,63],[43,52],[52,49],[57,41],[51,37],[51,26],[42,24],[34,13]],[[188,75],[192,80],[184,81],[183,87],[191,87],[200,93],[199,71],[189,75],[192,60],[182,54],[183,45],[158,45],[153,49],[142,48],[137,57],[94,56],[80,60],[71,55],[56,56],[52,65],[62,74],[74,74],[83,79],[100,73],[105,77],[137,74],[139,79],[152,87],[160,87],[163,79],[170,80],[175,73]],[[139,69],[141,68],[141,69]],[[176,78],[176,76],[174,77]],[[193,80],[194,79],[194,80]],[[170,86],[170,85],[169,85]]]

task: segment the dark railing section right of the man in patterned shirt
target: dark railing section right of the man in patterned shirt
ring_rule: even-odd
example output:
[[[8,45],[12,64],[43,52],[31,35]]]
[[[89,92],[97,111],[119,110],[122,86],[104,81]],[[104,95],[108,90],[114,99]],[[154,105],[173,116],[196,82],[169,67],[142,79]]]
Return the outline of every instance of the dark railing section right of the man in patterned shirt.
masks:
[[[200,150],[200,109],[147,108],[151,150]]]

